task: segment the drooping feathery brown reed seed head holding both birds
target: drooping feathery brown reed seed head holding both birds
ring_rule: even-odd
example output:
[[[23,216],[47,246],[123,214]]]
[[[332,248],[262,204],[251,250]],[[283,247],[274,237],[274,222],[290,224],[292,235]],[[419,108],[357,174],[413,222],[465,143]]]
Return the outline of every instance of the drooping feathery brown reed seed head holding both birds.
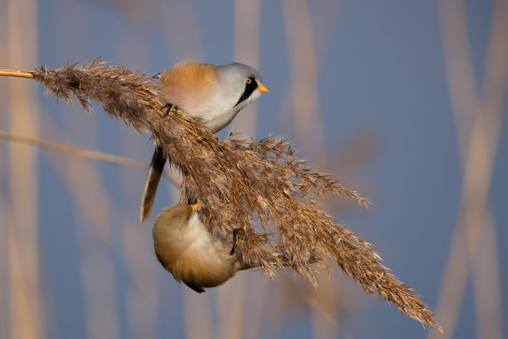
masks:
[[[165,102],[149,74],[105,64],[96,60],[28,73],[47,86],[50,96],[69,103],[77,98],[88,112],[90,101],[99,103],[107,114],[137,132],[151,133],[182,173],[182,200],[206,205],[205,224],[213,232],[232,238],[233,229],[239,227],[240,252],[264,273],[274,276],[277,267],[284,269],[282,264],[289,263],[317,287],[317,272],[308,264],[317,261],[330,272],[325,259],[333,257],[365,292],[442,332],[420,295],[380,264],[371,245],[336,225],[312,200],[330,192],[351,196],[365,206],[366,199],[309,169],[285,140],[274,136],[234,139],[231,133],[218,141],[180,111],[163,118],[160,108]],[[279,241],[271,233],[258,231],[256,222],[263,231],[275,225]]]

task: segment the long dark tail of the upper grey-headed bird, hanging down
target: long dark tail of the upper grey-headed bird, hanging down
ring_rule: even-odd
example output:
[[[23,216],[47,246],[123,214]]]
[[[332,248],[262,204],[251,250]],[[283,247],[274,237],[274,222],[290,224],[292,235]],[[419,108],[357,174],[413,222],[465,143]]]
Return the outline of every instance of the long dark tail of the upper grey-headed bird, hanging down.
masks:
[[[150,219],[150,213],[152,212],[153,200],[155,199],[155,193],[157,192],[157,186],[161,175],[166,164],[166,153],[164,149],[156,145],[153,151],[152,162],[148,168],[146,174],[145,187],[143,188],[143,196],[141,197],[141,210],[140,220],[141,222],[148,221]]]

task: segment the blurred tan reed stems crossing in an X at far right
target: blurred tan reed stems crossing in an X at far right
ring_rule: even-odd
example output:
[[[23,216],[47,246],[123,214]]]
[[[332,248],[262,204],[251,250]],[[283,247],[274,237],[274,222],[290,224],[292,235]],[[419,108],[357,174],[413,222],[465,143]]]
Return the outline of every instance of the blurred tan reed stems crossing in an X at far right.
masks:
[[[489,218],[488,192],[508,75],[508,3],[496,0],[493,5],[481,92],[475,88],[464,3],[449,0],[438,4],[463,187],[436,314],[447,336],[452,337],[468,274],[472,272],[477,336],[502,338],[501,288],[493,236],[495,224]],[[489,250],[481,253],[480,247]],[[488,260],[478,265],[481,255],[487,255]],[[427,336],[438,337],[431,332]]]

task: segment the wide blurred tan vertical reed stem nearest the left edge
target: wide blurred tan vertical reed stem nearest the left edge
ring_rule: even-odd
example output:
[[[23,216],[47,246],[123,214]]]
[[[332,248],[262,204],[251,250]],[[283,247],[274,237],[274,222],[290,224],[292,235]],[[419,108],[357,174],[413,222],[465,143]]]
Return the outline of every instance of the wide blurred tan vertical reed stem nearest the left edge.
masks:
[[[8,32],[7,65],[26,69],[37,63],[37,0],[9,0],[6,24]],[[12,133],[39,135],[39,104],[36,86],[22,79],[9,80],[5,102],[10,112]],[[42,313],[39,242],[38,242],[38,150],[19,143],[9,144],[9,324],[11,338],[45,337]],[[5,250],[4,250],[5,251]]]

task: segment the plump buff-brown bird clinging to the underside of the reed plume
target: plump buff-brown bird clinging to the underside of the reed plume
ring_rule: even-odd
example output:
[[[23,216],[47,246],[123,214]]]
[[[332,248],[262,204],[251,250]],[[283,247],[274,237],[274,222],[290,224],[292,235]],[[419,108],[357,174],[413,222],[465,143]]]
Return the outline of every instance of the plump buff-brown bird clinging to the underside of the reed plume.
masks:
[[[176,204],[157,214],[153,225],[155,255],[163,267],[198,293],[204,287],[216,287],[235,273],[251,268],[235,253],[233,244],[216,233],[212,234],[200,220],[201,204]],[[235,234],[236,235],[236,234]]]

